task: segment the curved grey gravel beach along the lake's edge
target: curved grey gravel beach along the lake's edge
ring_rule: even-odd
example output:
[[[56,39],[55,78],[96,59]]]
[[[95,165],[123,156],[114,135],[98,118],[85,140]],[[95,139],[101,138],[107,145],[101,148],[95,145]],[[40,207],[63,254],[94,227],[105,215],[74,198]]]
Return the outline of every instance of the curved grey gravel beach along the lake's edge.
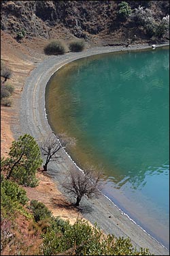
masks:
[[[169,44],[161,44],[160,46],[165,45]],[[45,91],[50,77],[59,68],[71,61],[90,55],[111,53],[114,51],[133,51],[145,48],[150,48],[150,46],[148,44],[134,45],[128,49],[122,46],[97,47],[81,53],[67,53],[65,55],[47,57],[47,59],[39,63],[37,68],[31,72],[22,91],[20,100],[20,128],[22,133],[29,133],[40,142],[49,131],[52,132],[46,117]],[[16,133],[19,133],[19,130]],[[51,162],[49,166],[50,175],[59,184],[62,182],[63,176],[61,174],[63,170],[67,171],[73,165],[73,161],[64,150],[61,150],[61,157],[63,159],[62,162]],[[59,186],[59,189],[63,192],[61,186]],[[125,214],[122,214],[118,207],[114,203],[111,204],[109,199],[104,195],[91,202],[82,199],[82,202],[86,206],[84,208],[85,210],[82,210],[84,218],[88,219],[91,223],[97,222],[105,233],[114,233],[115,236],[129,236],[133,245],[137,246],[137,248],[140,246],[149,248],[150,252],[155,255],[169,255],[167,248],[148,235],[137,224],[133,223]]]

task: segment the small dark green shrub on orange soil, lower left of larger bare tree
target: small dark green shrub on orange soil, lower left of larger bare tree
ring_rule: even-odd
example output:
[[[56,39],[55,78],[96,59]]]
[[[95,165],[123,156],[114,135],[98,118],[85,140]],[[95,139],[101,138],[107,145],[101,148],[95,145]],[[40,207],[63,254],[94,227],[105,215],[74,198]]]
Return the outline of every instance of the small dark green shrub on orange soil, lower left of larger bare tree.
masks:
[[[52,216],[52,212],[48,210],[44,203],[40,203],[37,200],[31,200],[30,205],[36,222],[44,220],[45,218],[50,218]]]

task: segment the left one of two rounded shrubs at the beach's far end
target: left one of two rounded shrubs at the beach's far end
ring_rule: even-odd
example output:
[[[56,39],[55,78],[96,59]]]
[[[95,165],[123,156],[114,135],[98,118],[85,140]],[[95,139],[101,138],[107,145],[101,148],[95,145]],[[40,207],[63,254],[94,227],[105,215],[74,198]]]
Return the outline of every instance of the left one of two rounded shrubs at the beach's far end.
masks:
[[[65,46],[60,41],[52,41],[44,47],[46,55],[58,55],[65,53]]]

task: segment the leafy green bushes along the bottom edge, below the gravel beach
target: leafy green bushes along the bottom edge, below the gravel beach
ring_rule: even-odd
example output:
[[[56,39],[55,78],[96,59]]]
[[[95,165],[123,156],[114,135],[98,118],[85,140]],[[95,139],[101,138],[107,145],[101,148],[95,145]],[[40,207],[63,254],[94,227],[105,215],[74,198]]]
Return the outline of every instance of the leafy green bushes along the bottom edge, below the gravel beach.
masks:
[[[103,236],[96,225],[92,227],[84,220],[70,225],[56,218],[43,238],[44,255],[150,255],[148,249],[137,251],[129,238]]]

